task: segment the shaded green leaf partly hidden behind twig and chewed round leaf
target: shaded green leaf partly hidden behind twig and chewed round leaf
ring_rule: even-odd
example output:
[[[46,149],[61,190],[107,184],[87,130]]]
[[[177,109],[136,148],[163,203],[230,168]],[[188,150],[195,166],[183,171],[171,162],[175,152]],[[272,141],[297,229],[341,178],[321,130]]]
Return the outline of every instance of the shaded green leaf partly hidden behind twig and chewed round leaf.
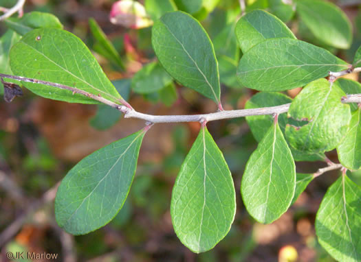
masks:
[[[252,96],[247,103],[245,108],[262,108],[268,106],[280,106],[282,104],[291,103],[292,99],[283,95],[282,93],[275,92],[259,92]],[[248,126],[256,141],[261,141],[267,130],[274,123],[272,115],[257,115],[245,117]],[[281,128],[283,134],[285,134],[285,126],[287,124],[287,115],[281,114],[278,116],[278,125]],[[300,152],[292,147],[289,148],[292,152],[292,156],[296,161],[316,161],[325,159],[324,154],[306,154]]]

